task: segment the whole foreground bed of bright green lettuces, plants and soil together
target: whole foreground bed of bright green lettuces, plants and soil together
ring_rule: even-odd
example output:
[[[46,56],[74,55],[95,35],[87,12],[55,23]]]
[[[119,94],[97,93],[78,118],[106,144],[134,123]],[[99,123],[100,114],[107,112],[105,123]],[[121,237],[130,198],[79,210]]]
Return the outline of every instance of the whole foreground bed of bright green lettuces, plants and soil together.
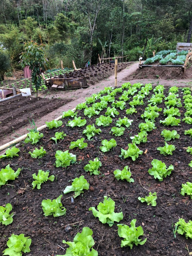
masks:
[[[107,87],[0,156],[3,255],[192,251],[190,88]]]

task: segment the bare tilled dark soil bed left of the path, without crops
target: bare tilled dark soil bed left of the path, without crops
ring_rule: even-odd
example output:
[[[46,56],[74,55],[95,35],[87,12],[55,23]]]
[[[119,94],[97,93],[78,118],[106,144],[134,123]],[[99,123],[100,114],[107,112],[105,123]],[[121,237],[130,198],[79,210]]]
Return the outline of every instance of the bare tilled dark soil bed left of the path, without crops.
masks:
[[[0,102],[0,136],[3,137],[22,126],[29,124],[29,120],[37,120],[72,99],[43,99],[17,96]]]

